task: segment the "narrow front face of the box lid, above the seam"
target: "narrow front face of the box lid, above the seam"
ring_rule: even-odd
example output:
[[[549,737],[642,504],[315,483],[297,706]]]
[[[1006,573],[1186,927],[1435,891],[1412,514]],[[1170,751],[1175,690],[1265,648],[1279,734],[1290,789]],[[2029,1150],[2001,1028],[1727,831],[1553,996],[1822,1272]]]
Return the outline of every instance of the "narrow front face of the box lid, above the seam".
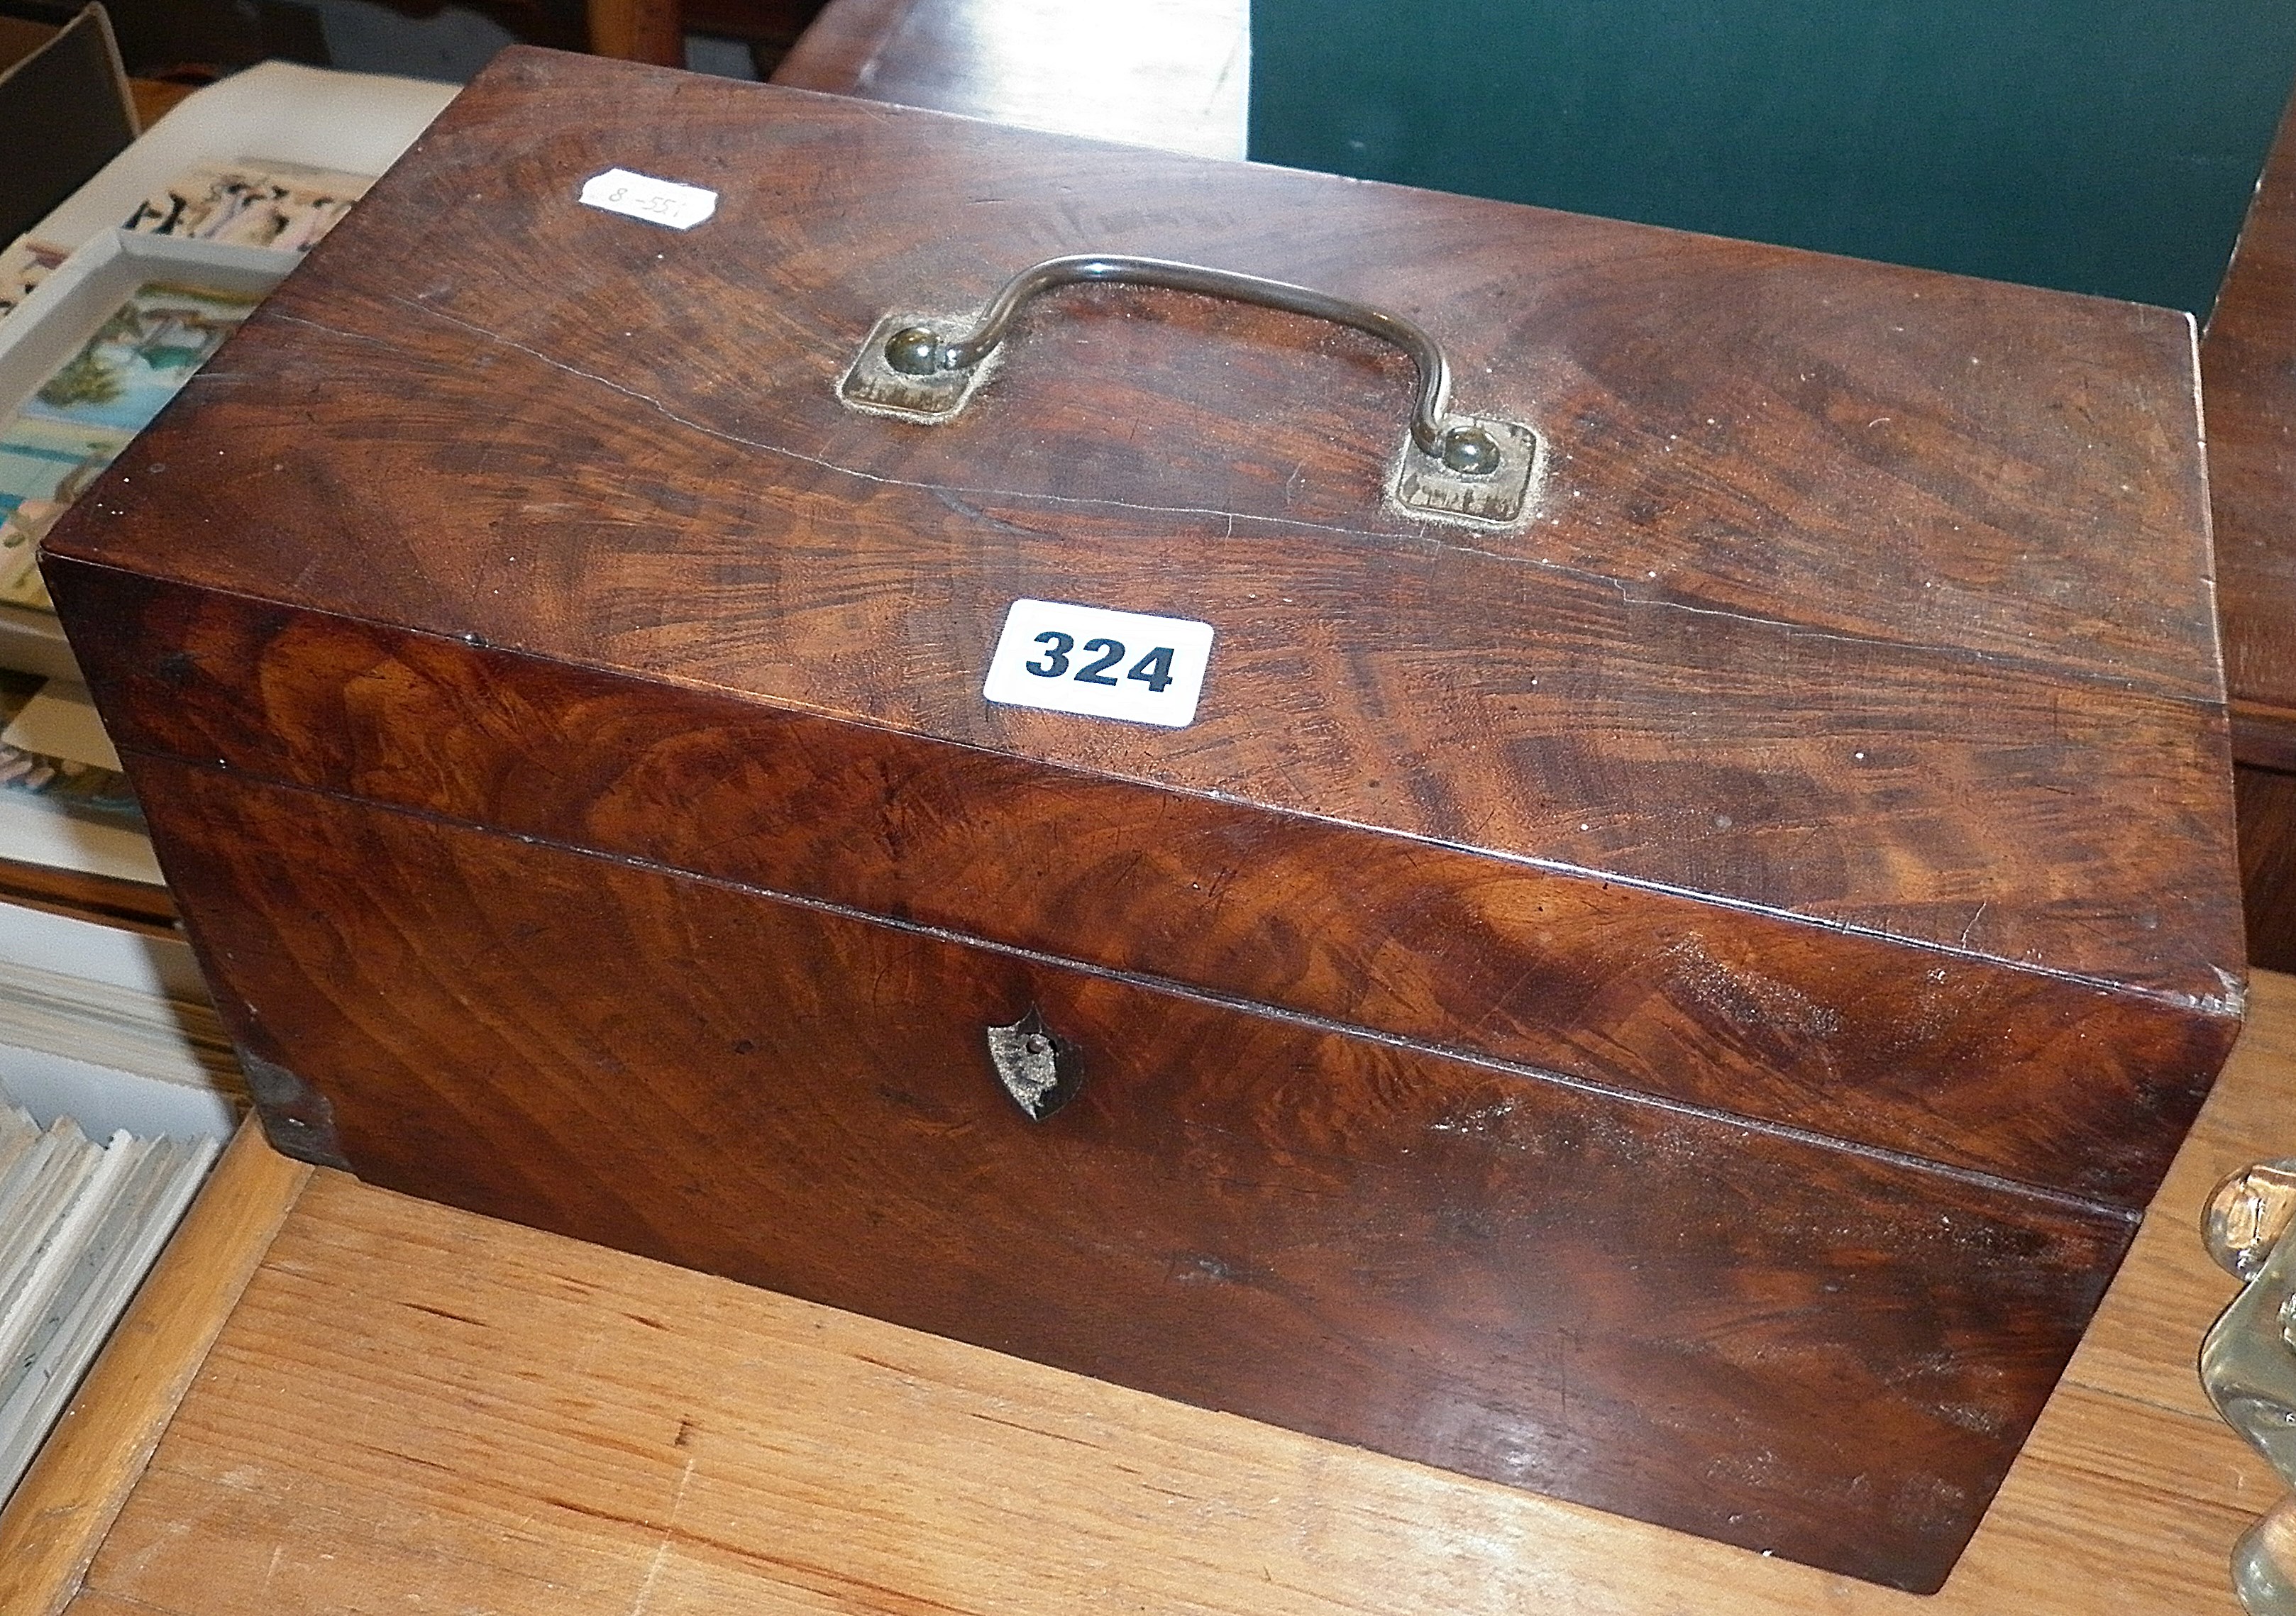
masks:
[[[48,562],[122,744],[2142,1205],[2227,1024],[1688,893]],[[195,670],[195,673],[193,673]],[[2046,1104],[2043,1083],[2048,1083]],[[2163,1120],[2172,1122],[2163,1127]]]

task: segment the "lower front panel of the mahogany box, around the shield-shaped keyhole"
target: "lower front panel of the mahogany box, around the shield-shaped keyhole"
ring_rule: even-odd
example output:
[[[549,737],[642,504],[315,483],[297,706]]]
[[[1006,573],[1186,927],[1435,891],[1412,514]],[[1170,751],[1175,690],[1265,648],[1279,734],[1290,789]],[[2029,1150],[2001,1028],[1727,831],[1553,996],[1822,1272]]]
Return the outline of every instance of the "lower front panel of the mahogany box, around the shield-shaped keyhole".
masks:
[[[1942,1577],[2135,1233],[138,762],[248,1049],[321,1077],[370,1182],[1869,1579]],[[1088,1060],[1047,1125],[978,1047],[1031,1005]]]

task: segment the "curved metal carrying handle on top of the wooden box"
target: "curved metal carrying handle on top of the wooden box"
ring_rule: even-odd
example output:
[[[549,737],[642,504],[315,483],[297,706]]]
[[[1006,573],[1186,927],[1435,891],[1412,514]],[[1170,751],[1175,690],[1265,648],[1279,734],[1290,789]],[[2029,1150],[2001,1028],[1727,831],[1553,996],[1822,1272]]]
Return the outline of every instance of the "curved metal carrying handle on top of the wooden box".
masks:
[[[1419,445],[1419,452],[1442,461],[1463,477],[1488,477],[1499,471],[1499,443],[1488,432],[1476,425],[1444,425],[1444,413],[1449,413],[1451,404],[1451,360],[1444,358],[1442,344],[1435,337],[1401,314],[1389,314],[1368,303],[1334,298],[1327,292],[1295,287],[1286,280],[1240,275],[1231,269],[1205,269],[1203,264],[1176,264],[1162,257],[1125,257],[1118,252],[1049,257],[1013,275],[980,312],[974,328],[955,342],[944,342],[930,326],[902,326],[886,340],[884,363],[902,376],[971,370],[996,351],[996,344],[1013,328],[1019,305],[1038,292],[1100,280],[1258,303],[1286,314],[1329,319],[1394,342],[1419,367],[1419,395],[1412,399],[1412,443]]]

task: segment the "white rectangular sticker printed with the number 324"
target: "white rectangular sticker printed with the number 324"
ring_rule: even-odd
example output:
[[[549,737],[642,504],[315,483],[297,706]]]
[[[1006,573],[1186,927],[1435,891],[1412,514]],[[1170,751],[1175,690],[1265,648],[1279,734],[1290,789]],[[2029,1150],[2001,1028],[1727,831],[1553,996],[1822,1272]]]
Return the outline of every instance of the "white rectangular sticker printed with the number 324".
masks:
[[[1212,624],[1137,611],[1013,601],[980,693],[1006,707],[1079,712],[1091,718],[1196,721]]]

